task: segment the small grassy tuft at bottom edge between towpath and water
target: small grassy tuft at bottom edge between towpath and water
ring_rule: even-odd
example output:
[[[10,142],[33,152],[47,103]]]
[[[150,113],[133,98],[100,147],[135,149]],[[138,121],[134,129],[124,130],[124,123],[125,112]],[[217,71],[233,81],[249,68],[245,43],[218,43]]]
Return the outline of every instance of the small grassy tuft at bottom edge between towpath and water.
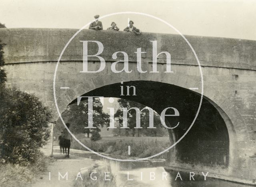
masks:
[[[96,173],[94,173],[94,175],[92,175],[92,178],[91,178],[90,174],[92,172],[96,172]],[[106,179],[109,179],[109,180],[105,180],[105,176],[104,176],[105,172],[111,173],[111,169],[109,166],[94,165],[94,167],[88,169],[88,171],[86,171],[86,173],[82,174],[83,180],[74,181],[74,187],[92,187],[92,186],[95,186],[95,187],[117,187],[115,176],[112,174],[107,174],[109,176],[107,176]]]

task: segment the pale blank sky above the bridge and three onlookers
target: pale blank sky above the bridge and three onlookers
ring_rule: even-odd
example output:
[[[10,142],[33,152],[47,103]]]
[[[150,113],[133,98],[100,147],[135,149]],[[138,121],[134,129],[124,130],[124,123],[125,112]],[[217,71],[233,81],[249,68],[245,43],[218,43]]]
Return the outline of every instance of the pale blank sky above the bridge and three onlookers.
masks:
[[[8,28],[82,28],[114,12],[143,12],[172,24],[182,34],[256,40],[256,0],[0,0],[0,22]],[[103,28],[127,20],[145,32],[176,33],[166,25],[140,15],[102,19]]]

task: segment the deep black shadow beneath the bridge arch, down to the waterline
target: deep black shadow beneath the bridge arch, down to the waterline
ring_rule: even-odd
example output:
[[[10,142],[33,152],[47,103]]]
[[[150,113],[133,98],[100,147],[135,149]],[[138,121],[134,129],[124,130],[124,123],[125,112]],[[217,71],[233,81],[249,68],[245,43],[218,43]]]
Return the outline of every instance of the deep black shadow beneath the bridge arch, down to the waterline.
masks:
[[[131,86],[136,88],[136,94]],[[127,95],[127,87],[131,87],[130,95]],[[120,92],[121,88],[124,89],[123,94]],[[82,96],[104,96],[132,100],[152,108],[158,114],[161,114],[162,110],[167,107],[176,108],[180,116],[166,117],[166,124],[170,127],[174,127],[180,122],[177,128],[168,130],[171,142],[175,142],[186,132],[194,120],[200,103],[200,94],[194,91],[155,81],[114,83],[96,88]],[[82,98],[82,100],[86,99]],[[75,99],[70,104],[76,102]],[[171,114],[173,111],[169,112]],[[177,163],[182,163],[228,169],[229,164],[232,163],[232,145],[235,139],[232,122],[226,113],[204,96],[193,127],[183,140],[174,149],[171,149],[168,159],[174,166],[177,166]]]

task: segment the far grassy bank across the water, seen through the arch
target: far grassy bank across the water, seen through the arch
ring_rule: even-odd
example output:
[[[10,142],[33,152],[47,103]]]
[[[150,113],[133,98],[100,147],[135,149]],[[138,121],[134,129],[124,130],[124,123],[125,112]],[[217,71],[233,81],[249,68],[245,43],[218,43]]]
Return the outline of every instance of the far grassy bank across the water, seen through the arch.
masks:
[[[170,146],[169,137],[102,137],[101,140],[92,142],[90,138],[82,135],[76,136],[84,145],[96,152],[102,152],[115,156],[129,156],[130,146],[131,157],[149,157],[162,152]],[[76,141],[72,142],[73,149],[84,150]],[[165,154],[158,156],[165,158]]]

